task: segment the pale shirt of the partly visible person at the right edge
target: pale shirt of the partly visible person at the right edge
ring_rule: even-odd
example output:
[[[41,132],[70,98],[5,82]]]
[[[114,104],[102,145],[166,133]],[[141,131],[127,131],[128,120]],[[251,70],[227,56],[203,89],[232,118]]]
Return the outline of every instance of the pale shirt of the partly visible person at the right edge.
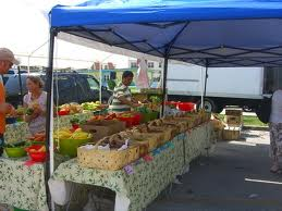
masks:
[[[282,90],[274,91],[271,104],[271,123],[282,123]]]

